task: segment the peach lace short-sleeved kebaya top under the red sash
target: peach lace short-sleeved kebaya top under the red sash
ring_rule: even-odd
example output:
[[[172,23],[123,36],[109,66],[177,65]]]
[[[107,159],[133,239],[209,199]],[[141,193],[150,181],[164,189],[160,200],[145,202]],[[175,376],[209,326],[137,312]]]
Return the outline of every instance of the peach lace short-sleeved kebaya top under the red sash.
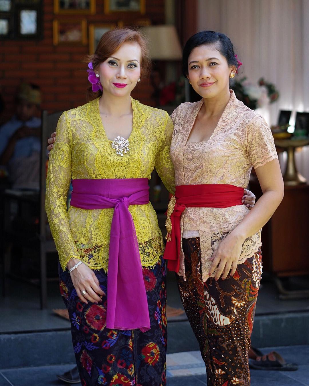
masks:
[[[234,91],[230,92],[229,103],[207,142],[187,142],[203,99],[182,103],[172,113],[174,132],[170,154],[176,186],[230,184],[246,188],[252,166],[258,168],[278,158],[272,132],[263,117],[236,99]],[[182,237],[200,237],[203,281],[209,278],[209,258],[248,212],[245,205],[238,205],[186,208],[182,213]],[[239,263],[251,257],[260,245],[261,231],[244,241]],[[182,248],[178,274],[185,278]]]

